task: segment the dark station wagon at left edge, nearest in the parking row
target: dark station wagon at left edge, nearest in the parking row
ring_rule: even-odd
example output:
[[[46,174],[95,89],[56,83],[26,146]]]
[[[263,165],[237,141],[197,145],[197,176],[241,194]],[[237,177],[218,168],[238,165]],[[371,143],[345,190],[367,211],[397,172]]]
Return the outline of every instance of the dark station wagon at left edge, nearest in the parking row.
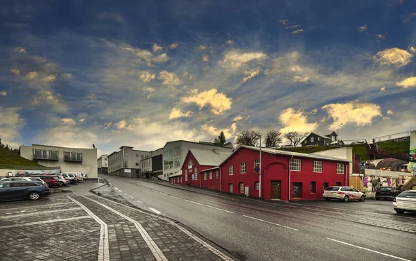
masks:
[[[15,201],[21,199],[40,199],[51,194],[49,188],[31,181],[6,181],[0,183],[0,201]]]

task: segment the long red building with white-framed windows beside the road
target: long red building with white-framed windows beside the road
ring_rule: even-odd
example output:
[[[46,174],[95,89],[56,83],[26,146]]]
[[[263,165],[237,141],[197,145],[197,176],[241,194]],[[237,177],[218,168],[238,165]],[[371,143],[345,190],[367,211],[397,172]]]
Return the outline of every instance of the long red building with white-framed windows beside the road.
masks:
[[[182,176],[185,179],[186,176],[193,175],[193,178],[188,178],[183,185],[207,187],[233,194],[245,194],[245,190],[248,190],[250,196],[259,197],[261,194],[264,199],[286,201],[322,199],[325,187],[349,184],[348,160],[261,149],[260,166],[259,153],[257,147],[239,146],[218,167],[200,164],[200,159],[188,153]],[[192,160],[192,168],[189,168],[189,160]],[[256,167],[259,167],[259,172],[255,171]],[[193,171],[191,174],[189,169]]]

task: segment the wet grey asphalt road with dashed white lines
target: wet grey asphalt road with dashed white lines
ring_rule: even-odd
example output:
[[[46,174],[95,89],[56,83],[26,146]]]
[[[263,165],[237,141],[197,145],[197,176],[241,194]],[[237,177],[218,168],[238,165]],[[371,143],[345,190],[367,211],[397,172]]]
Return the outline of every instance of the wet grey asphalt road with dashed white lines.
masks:
[[[412,216],[250,201],[103,178],[139,208],[180,221],[241,260],[416,260],[416,233],[400,230],[416,227]]]

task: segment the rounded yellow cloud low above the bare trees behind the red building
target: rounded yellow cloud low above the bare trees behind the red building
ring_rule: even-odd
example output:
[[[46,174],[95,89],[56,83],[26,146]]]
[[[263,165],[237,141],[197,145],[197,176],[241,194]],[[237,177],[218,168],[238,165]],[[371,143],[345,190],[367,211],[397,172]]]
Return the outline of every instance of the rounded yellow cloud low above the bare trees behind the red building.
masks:
[[[279,122],[283,128],[281,133],[288,133],[290,131],[297,131],[300,133],[307,133],[315,130],[318,123],[309,123],[307,115],[302,110],[295,110],[294,108],[287,108],[279,115]]]

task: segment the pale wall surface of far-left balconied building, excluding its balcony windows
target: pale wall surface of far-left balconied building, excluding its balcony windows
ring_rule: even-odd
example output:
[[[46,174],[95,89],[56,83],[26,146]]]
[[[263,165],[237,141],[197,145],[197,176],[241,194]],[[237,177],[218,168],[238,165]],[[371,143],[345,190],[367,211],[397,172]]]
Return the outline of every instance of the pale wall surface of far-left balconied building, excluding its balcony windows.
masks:
[[[32,144],[32,146],[20,146],[20,155],[28,160],[33,160],[33,149],[46,149],[49,151],[58,151],[58,160],[37,160],[37,162],[45,167],[60,167],[64,172],[80,172],[87,174],[89,178],[98,177],[97,150],[96,149],[80,149],[65,148],[59,146],[47,146]],[[64,161],[64,152],[83,153],[82,162]]]

